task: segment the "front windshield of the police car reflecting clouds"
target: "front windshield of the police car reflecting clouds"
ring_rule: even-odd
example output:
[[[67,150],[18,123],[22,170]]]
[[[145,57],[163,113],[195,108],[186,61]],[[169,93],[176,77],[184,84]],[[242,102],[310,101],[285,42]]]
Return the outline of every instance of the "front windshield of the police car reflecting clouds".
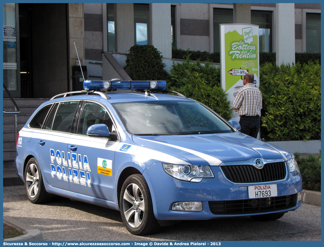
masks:
[[[231,127],[198,102],[114,103],[127,131],[136,135],[230,133]]]

